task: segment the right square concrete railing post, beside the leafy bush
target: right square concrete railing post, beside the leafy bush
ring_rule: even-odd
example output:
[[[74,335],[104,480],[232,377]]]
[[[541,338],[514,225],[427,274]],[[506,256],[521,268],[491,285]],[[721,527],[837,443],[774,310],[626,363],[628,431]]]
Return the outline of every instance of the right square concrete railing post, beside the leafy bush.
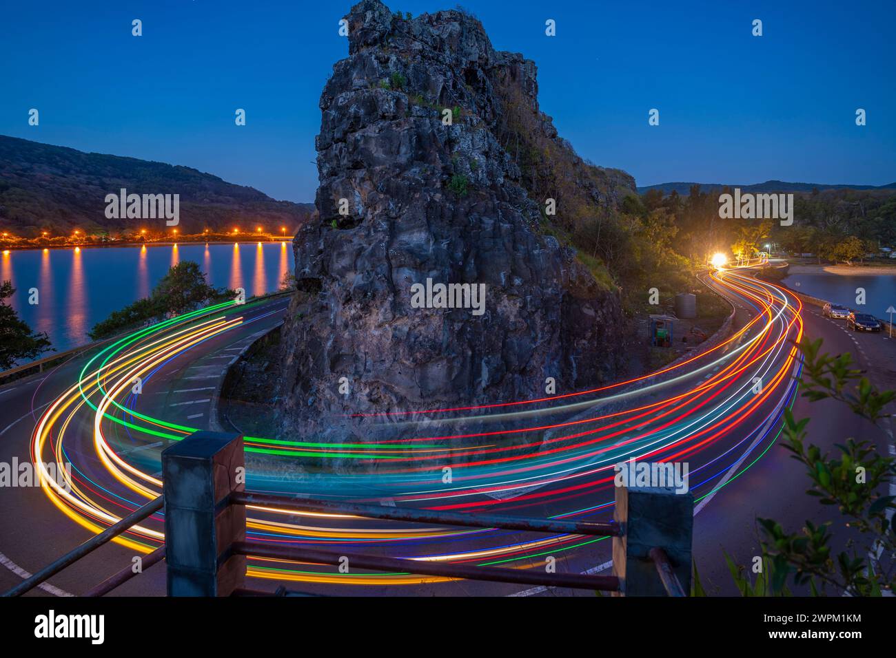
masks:
[[[613,538],[618,596],[666,596],[650,549],[666,551],[685,595],[691,591],[694,495],[673,487],[616,487],[614,518],[623,534]]]

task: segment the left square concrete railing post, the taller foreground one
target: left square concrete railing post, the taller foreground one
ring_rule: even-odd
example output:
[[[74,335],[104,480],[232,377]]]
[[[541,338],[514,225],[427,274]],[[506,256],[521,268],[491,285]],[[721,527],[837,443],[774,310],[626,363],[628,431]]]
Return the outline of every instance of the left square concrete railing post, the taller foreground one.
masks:
[[[168,596],[228,596],[242,587],[246,508],[228,504],[244,491],[243,435],[194,432],[162,452]]]

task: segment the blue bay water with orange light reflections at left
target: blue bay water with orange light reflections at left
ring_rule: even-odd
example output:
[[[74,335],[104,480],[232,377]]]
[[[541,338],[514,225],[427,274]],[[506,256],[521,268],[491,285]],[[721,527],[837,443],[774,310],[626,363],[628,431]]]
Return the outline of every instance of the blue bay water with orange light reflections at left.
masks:
[[[159,244],[6,252],[0,280],[16,288],[8,303],[57,351],[90,341],[87,331],[110,312],[150,295],[168,268],[194,261],[212,286],[246,289],[246,296],[277,290],[293,269],[291,243]],[[28,303],[30,288],[39,303]]]

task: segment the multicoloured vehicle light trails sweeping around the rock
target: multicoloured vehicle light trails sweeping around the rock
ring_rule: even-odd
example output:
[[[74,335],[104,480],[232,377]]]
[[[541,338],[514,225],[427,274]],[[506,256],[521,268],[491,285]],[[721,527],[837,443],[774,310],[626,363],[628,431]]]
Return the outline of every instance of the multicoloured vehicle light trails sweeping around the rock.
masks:
[[[537,516],[603,519],[612,511],[616,464],[631,457],[654,461],[686,457],[694,462],[691,474],[701,480],[695,484],[692,480],[695,498],[710,495],[718,491],[721,474],[743,458],[745,447],[760,439],[754,451],[761,456],[777,439],[780,413],[787,403],[792,404],[796,387],[793,375],[799,362],[793,343],[803,331],[802,304],[780,286],[733,271],[712,279],[725,295],[753,306],[755,315],[731,338],[681,363],[556,397],[367,415],[370,423],[388,423],[403,432],[398,439],[334,444],[246,437],[247,488],[330,500],[390,498],[430,509],[487,508],[503,513],[530,508]],[[226,303],[167,320],[134,332],[90,359],[79,379],[41,414],[31,439],[32,461],[46,485],[43,491],[56,508],[99,533],[159,495],[160,450],[130,452],[125,450],[128,441],[170,443],[194,428],[138,412],[134,406],[142,398],[131,391],[134,378],[141,378],[146,387],[169,363],[188,358],[207,341],[270,314],[254,314],[256,306]],[[693,381],[701,376],[705,380]],[[762,381],[758,393],[757,377]],[[598,406],[603,413],[590,412]],[[566,417],[544,422],[557,414]],[[423,416],[434,415],[440,427],[453,423],[461,425],[461,431],[426,435],[433,419]],[[486,429],[488,423],[505,426]],[[88,427],[89,436],[77,431]],[[64,483],[50,477],[44,466],[47,455],[51,461],[73,463]],[[309,457],[322,466],[293,476]],[[758,458],[749,460],[728,484]],[[324,466],[335,460],[340,468]],[[358,466],[345,466],[351,462]],[[365,464],[369,466],[361,466]],[[444,466],[454,472],[450,483],[442,480]],[[513,568],[538,568],[547,555],[593,551],[603,539],[561,534],[520,540],[516,534],[488,528],[409,527],[258,506],[250,506],[248,513],[247,534],[257,541],[333,548],[363,544],[413,560]],[[163,541],[161,515],[116,540],[141,552],[152,551]],[[248,574],[341,585],[448,580],[407,574],[339,574],[323,565],[255,558],[250,559]]]

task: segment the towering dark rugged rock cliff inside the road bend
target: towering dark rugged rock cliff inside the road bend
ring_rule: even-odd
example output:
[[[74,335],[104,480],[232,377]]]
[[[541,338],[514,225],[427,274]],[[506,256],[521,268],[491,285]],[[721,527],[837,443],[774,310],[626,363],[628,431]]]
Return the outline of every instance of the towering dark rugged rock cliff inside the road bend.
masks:
[[[294,242],[286,429],[369,436],[369,419],[346,414],[508,402],[544,396],[548,377],[562,393],[613,375],[618,295],[546,233],[537,188],[562,167],[567,197],[609,207],[631,177],[575,156],[538,110],[535,64],[496,52],[475,18],[407,20],[378,0],[346,18],[349,57],[320,100],[318,216]],[[521,148],[556,162],[521,167]],[[484,285],[481,314],[419,308],[413,286],[427,279]]]

